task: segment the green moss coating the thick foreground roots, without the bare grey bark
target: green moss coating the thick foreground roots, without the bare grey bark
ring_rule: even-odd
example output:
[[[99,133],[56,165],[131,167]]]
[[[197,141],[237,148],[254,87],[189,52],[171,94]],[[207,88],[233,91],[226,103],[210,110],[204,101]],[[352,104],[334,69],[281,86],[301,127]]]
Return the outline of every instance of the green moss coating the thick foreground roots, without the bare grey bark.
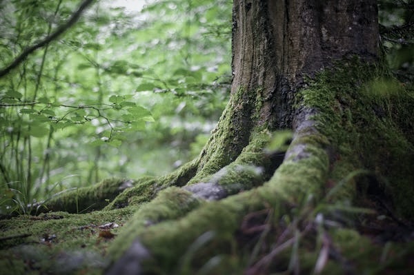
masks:
[[[249,147],[246,147],[246,151],[240,155],[240,160],[244,163],[249,163],[248,161],[260,163],[263,161],[264,158],[262,156],[257,158],[255,154],[263,155],[259,148],[263,148],[268,143],[268,139],[270,139],[268,134],[265,136],[267,138],[262,136],[257,138],[257,140],[253,139]],[[163,274],[163,272],[181,274],[181,268],[184,267],[186,270],[190,268],[191,272],[188,274],[193,274],[197,272],[197,268],[208,262],[211,255],[217,254],[223,255],[224,258],[232,258],[233,262],[239,266],[238,269],[232,267],[233,272],[235,270],[242,272],[245,268],[243,264],[246,264],[242,261],[245,257],[245,252],[237,249],[234,236],[246,215],[250,212],[266,209],[272,205],[275,209],[275,217],[277,217],[279,216],[279,211],[284,213],[286,209],[285,207],[275,205],[283,205],[286,202],[286,198],[291,199],[291,201],[288,200],[289,202],[297,201],[299,193],[308,194],[313,189],[320,188],[317,187],[319,185],[314,183],[323,182],[323,179],[326,177],[328,173],[328,156],[322,147],[315,145],[315,149],[311,148],[310,150],[315,150],[319,154],[315,152],[314,158],[309,157],[299,161],[284,163],[276,171],[273,179],[262,187],[230,196],[215,203],[199,205],[199,207],[188,212],[183,218],[168,219],[168,221],[151,225],[142,230],[145,215],[148,215],[148,212],[152,212],[153,207],[161,207],[160,211],[167,212],[167,210],[163,210],[163,205],[168,203],[168,201],[165,201],[165,198],[156,198],[155,201],[141,207],[132,219],[132,223],[126,227],[122,236],[119,236],[119,242],[121,244],[130,244],[133,240],[139,239],[144,243],[152,256],[154,256],[153,259],[157,261],[156,263],[151,261],[145,265],[148,268],[148,272],[153,272],[154,274]],[[257,152],[255,153],[255,151]],[[237,173],[233,173],[237,168],[236,163],[237,160],[234,166],[233,163],[228,165],[228,167],[232,167],[234,170],[224,173],[224,178],[221,179],[228,179],[228,183],[234,183],[235,178],[237,178]],[[252,181],[252,179],[248,179],[248,181]],[[295,185],[299,186],[299,190]],[[307,187],[309,189],[306,189]],[[160,195],[167,191],[160,192]],[[291,197],[286,195],[288,192],[290,192]],[[146,209],[147,206],[151,210],[148,211]],[[168,209],[170,208],[175,209],[172,205],[168,207]],[[204,232],[213,232],[214,238],[197,249],[197,257],[189,263],[190,267],[186,265],[183,267],[181,263],[186,258],[184,255],[191,251],[190,247],[197,243],[197,240]],[[125,251],[126,247],[122,247],[120,250]],[[111,254],[120,256],[119,252]],[[226,270],[225,265],[225,263],[217,265],[214,272],[224,272]]]

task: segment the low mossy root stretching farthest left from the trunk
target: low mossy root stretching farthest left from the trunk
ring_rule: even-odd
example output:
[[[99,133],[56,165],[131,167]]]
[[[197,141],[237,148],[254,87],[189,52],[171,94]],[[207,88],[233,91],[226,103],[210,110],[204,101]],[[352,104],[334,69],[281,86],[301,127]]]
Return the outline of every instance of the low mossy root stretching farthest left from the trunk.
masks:
[[[154,178],[144,176],[131,179],[105,179],[88,187],[73,188],[52,196],[46,201],[30,205],[30,214],[50,211],[86,213],[96,210],[111,210],[128,205],[140,205],[154,198],[168,186],[181,186],[195,174],[198,159],[190,161],[175,172]]]

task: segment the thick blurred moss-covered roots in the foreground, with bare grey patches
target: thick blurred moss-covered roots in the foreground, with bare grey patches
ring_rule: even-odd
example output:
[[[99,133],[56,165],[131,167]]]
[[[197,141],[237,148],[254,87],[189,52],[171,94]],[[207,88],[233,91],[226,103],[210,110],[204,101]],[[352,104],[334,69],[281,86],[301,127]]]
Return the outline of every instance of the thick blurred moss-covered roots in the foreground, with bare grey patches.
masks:
[[[257,140],[253,139],[234,163],[201,181],[224,187],[226,194],[233,196],[224,198],[222,190],[210,186],[206,188],[217,191],[215,195],[222,199],[214,203],[205,201],[202,198],[209,199],[213,194],[200,196],[202,192],[197,191],[204,187],[200,183],[181,189],[170,187],[160,192],[154,201],[141,207],[112,243],[110,255],[116,263],[107,274],[134,274],[128,273],[126,266],[143,274],[182,274],[184,269],[191,274],[197,270],[191,269],[190,265],[200,267],[200,263],[208,263],[218,254],[226,258],[222,265],[215,267],[219,272],[234,272],[237,265],[240,268],[245,255],[240,254],[243,249],[237,247],[239,244],[234,236],[242,237],[241,225],[249,213],[272,210],[273,218],[280,218],[309,196],[313,196],[312,201],[322,197],[330,167],[327,139],[315,129],[315,121],[309,116],[297,129],[284,163],[260,187],[251,189],[268,178],[266,172],[257,171],[253,163],[263,164],[266,154],[263,153],[264,143],[258,146]],[[263,136],[260,140],[264,140]],[[195,186],[199,188],[193,188]],[[210,239],[197,247],[202,236],[210,236]],[[194,256],[192,253],[196,253],[194,249],[197,249],[197,263],[189,263],[189,258]],[[134,267],[128,264],[131,260]]]

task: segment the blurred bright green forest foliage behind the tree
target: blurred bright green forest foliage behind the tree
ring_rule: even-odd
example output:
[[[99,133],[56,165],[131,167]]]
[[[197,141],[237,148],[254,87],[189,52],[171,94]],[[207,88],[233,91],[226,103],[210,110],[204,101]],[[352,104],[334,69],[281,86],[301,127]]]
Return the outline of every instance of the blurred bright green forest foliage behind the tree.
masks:
[[[80,3],[0,1],[0,68]],[[232,3],[95,1],[1,77],[0,214],[112,176],[166,174],[197,156],[229,96]],[[412,6],[380,1],[382,43],[404,81],[414,68]]]

